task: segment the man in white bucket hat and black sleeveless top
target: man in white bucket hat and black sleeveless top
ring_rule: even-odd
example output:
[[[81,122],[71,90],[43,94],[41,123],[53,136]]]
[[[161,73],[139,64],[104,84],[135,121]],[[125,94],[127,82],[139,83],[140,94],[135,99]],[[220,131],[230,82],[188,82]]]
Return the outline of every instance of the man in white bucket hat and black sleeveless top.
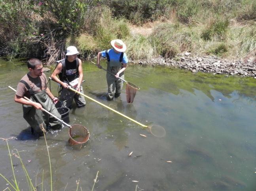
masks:
[[[68,86],[74,81],[75,84],[71,86],[83,93],[81,85],[83,80],[82,61],[77,57],[77,54],[79,52],[75,46],[68,46],[67,58],[63,59],[51,74],[51,78],[62,85],[63,89],[61,90],[60,100],[63,102],[63,106],[68,108],[72,107],[73,99],[79,108],[86,104],[84,97],[68,89]],[[57,75],[59,75],[59,78],[57,78]]]

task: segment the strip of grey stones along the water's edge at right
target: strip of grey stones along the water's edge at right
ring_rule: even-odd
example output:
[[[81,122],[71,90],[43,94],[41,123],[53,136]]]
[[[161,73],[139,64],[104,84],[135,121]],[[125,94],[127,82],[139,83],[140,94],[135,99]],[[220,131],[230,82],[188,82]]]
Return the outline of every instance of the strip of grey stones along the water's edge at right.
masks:
[[[135,62],[132,62],[135,63]],[[140,65],[160,65],[190,70],[191,72],[209,72],[213,74],[229,74],[252,76],[256,78],[256,57],[245,60],[230,61],[216,56],[192,56],[189,52],[178,54],[173,59],[159,56],[151,60],[140,60]]]

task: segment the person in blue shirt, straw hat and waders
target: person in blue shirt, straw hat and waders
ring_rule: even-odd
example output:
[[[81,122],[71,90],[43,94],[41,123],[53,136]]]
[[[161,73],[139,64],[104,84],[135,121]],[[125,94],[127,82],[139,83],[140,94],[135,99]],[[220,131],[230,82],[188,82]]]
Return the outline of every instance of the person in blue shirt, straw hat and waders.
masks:
[[[111,41],[110,44],[113,47],[112,49],[98,53],[97,66],[98,68],[101,68],[101,57],[107,57],[107,70],[115,75],[109,74],[108,72],[106,74],[108,83],[108,99],[112,100],[114,97],[117,98],[121,95],[123,81],[119,80],[118,77],[124,79],[124,70],[127,67],[128,59],[125,54],[126,45],[123,41],[116,39]]]

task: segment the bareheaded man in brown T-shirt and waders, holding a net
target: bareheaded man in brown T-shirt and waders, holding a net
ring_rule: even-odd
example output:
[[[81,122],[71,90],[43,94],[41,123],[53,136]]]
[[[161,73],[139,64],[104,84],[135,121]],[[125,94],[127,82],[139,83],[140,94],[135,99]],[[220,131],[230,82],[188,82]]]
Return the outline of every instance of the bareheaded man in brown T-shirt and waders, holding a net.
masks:
[[[61,119],[61,115],[53,104],[58,101],[58,98],[53,96],[46,85],[47,80],[43,73],[42,62],[39,59],[31,58],[27,65],[29,72],[18,83],[15,102],[23,104],[23,117],[31,126],[32,132],[43,135],[40,124],[43,124],[46,130],[47,128],[54,130],[61,128],[61,123],[57,119],[41,110],[44,108]],[[32,102],[23,96],[30,98]]]

